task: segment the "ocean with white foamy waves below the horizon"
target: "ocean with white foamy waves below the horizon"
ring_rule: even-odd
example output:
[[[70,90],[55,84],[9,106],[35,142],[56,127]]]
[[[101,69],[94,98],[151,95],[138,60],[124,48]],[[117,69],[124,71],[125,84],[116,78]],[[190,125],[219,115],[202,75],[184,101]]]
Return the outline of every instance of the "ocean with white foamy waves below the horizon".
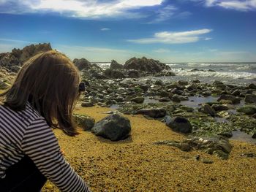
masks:
[[[110,63],[96,63],[108,69]],[[212,83],[219,80],[231,85],[256,84],[256,62],[250,63],[167,63],[174,77],[154,77],[164,81],[200,80]]]

